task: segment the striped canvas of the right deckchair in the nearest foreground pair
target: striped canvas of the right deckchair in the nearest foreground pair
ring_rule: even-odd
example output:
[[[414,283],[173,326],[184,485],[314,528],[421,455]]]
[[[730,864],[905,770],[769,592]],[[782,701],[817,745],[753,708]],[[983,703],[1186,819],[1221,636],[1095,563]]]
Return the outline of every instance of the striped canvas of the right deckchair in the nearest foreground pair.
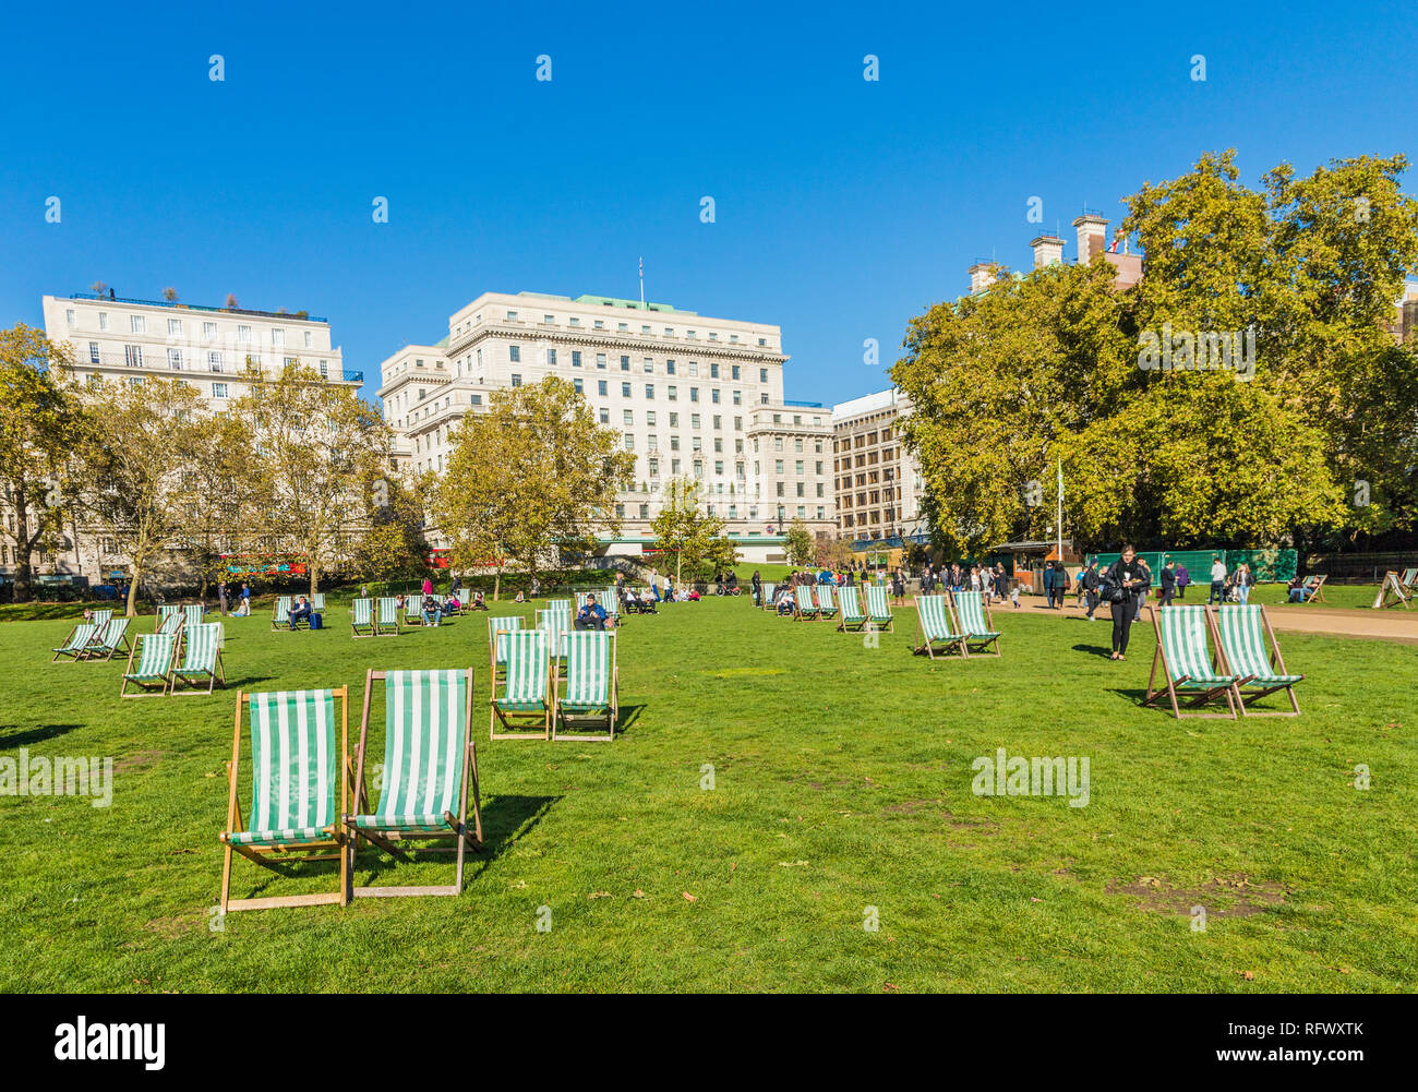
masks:
[[[467,671],[390,671],[384,675],[384,787],[356,828],[445,831],[462,797]]]

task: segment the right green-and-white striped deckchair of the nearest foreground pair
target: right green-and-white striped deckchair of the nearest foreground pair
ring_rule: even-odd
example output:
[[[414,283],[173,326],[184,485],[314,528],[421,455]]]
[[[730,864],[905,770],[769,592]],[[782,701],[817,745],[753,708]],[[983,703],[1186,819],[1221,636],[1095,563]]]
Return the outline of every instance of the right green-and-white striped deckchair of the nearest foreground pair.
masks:
[[[364,789],[369,764],[369,706],[374,684],[384,684],[384,769],[379,807],[370,810]],[[451,885],[354,888],[353,896],[461,895],[467,849],[482,848],[482,806],[478,801],[478,749],[471,737],[472,668],[464,671],[370,671],[364,676],[364,715],[359,729],[354,770],[354,811],[349,831],[349,868],[360,840],[408,859],[406,842],[457,847],[457,875]],[[474,828],[468,830],[468,789],[472,789]],[[438,851],[438,847],[410,845]],[[441,847],[444,852],[450,847]]]

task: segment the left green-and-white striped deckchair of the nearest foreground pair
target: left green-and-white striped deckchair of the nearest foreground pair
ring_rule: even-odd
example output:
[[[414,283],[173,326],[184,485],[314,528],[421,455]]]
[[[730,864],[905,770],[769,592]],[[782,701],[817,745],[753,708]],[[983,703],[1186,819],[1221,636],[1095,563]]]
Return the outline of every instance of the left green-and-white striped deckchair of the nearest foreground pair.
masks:
[[[336,752],[335,701],[340,702]],[[241,815],[241,720],[250,711],[251,810]],[[342,817],[349,806],[349,689],[237,692],[237,728],[227,763],[227,828],[221,912],[323,906],[349,901]],[[272,868],[277,859],[339,861],[339,891],[259,899],[231,898],[233,851]]]

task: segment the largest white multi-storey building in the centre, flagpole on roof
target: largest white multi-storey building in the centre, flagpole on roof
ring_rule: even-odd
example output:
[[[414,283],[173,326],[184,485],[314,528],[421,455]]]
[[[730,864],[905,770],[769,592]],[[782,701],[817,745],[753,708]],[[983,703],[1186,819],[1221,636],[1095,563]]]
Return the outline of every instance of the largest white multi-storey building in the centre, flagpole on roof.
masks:
[[[635,454],[608,552],[647,546],[664,488],[689,475],[744,556],[767,560],[795,518],[817,533],[834,528],[831,411],[783,399],[787,359],[780,328],[766,323],[610,296],[486,292],[450,318],[445,339],[384,360],[379,396],[398,458],[440,472],[455,425],[493,390],[567,379]]]

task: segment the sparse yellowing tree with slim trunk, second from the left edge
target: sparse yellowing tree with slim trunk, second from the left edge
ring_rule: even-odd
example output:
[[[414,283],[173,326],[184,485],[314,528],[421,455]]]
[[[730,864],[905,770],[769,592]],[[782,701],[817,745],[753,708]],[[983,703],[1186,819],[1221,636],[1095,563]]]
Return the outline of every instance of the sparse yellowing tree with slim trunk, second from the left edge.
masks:
[[[143,377],[85,393],[86,427],[78,445],[78,496],[88,520],[129,560],[128,617],[159,555],[191,526],[183,482],[197,452],[201,397],[186,383]]]

